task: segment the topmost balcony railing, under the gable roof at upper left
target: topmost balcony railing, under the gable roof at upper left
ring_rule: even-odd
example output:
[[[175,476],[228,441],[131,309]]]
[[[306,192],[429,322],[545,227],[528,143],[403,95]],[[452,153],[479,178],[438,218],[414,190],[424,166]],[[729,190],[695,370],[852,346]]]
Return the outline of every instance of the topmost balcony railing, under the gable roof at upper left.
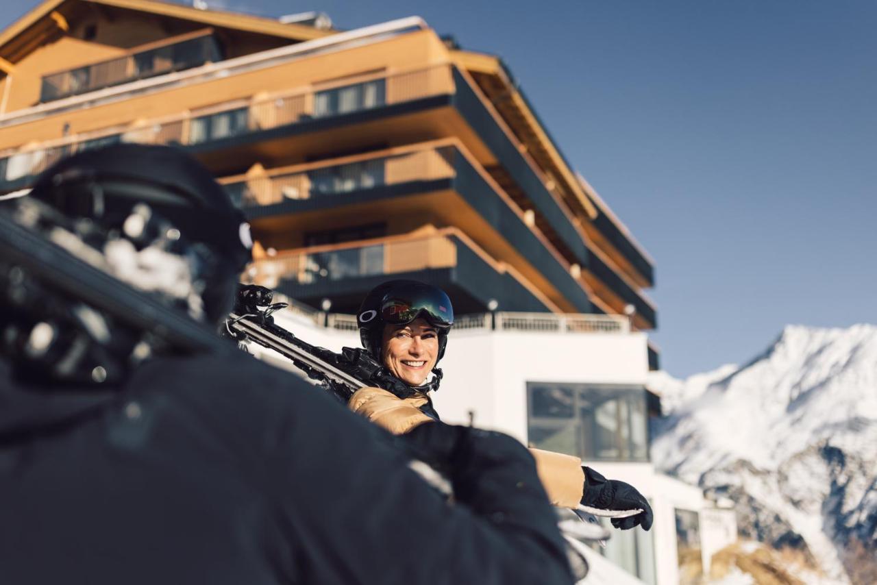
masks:
[[[172,71],[196,68],[222,59],[222,51],[217,39],[212,34],[205,33],[195,39],[186,39],[118,59],[45,75],[39,91],[39,101],[45,103],[63,97],[78,96],[96,89]]]

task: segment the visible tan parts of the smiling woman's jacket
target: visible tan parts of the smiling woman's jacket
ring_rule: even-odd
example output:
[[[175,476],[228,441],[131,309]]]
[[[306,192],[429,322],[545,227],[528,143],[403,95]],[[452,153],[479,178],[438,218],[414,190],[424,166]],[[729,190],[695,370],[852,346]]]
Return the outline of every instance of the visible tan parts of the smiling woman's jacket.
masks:
[[[418,410],[426,402],[425,396],[402,399],[384,389],[361,388],[351,396],[347,406],[389,432],[403,435],[418,424],[432,420]],[[548,500],[564,508],[578,506],[585,485],[581,459],[539,449],[531,449],[530,453],[536,460],[536,471]]]

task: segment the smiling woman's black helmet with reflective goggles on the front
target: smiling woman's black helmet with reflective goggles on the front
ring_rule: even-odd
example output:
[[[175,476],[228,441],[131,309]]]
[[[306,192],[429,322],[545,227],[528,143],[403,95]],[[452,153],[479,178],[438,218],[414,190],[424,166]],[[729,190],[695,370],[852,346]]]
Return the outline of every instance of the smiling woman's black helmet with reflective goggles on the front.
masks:
[[[356,314],[362,346],[381,360],[384,325],[405,325],[423,317],[439,332],[439,356],[445,355],[447,333],[453,327],[453,306],[445,291],[431,284],[410,280],[388,281],[374,287]]]

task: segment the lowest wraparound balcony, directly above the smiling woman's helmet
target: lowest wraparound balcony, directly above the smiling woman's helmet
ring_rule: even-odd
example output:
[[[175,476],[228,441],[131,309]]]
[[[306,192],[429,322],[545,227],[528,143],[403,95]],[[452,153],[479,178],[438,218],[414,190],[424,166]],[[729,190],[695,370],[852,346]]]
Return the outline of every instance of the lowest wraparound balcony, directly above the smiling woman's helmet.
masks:
[[[497,294],[503,306],[546,310],[530,282],[453,228],[277,253],[253,261],[245,277],[310,306],[328,298],[332,310],[349,313],[389,278],[436,284],[453,296],[459,312],[484,311]]]

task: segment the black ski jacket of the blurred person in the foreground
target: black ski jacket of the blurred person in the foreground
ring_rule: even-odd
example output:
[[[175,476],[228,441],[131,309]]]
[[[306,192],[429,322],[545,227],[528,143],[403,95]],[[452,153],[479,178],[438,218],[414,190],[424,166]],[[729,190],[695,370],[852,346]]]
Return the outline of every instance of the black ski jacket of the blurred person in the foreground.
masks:
[[[449,504],[397,439],[246,353],[101,391],[3,365],[0,583],[571,582],[530,455],[471,434]]]

